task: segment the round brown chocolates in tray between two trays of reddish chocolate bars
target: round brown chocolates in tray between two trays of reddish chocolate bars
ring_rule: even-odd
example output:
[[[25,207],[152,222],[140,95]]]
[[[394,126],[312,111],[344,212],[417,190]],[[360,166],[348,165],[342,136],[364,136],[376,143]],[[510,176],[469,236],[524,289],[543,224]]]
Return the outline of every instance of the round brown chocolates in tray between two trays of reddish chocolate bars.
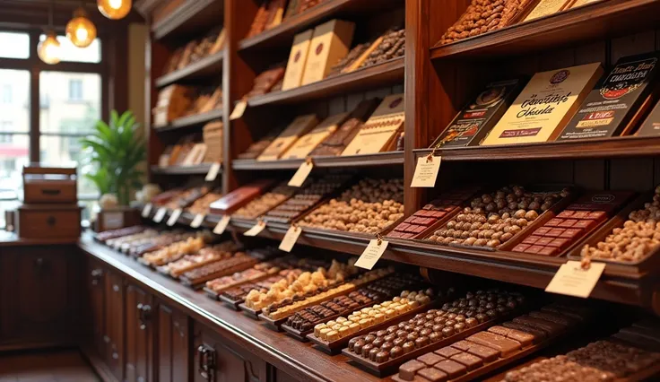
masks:
[[[446,245],[496,248],[513,239],[541,213],[568,195],[569,189],[530,192],[519,186],[502,187],[474,198],[469,207],[429,239]]]

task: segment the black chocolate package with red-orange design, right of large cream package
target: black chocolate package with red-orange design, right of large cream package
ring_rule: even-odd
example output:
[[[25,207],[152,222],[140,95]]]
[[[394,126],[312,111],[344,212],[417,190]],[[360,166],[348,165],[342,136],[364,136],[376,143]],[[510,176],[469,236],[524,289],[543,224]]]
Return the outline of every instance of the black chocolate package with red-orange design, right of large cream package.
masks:
[[[558,140],[606,138],[625,133],[647,99],[658,72],[660,53],[621,58],[595,86]],[[641,113],[639,113],[641,114]]]

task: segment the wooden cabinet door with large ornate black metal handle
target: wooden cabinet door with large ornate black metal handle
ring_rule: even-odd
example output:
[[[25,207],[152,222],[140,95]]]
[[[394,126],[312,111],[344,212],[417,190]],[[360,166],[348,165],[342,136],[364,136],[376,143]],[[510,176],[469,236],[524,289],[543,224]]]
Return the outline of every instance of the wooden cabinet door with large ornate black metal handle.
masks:
[[[265,382],[266,363],[195,322],[193,374],[195,382]]]

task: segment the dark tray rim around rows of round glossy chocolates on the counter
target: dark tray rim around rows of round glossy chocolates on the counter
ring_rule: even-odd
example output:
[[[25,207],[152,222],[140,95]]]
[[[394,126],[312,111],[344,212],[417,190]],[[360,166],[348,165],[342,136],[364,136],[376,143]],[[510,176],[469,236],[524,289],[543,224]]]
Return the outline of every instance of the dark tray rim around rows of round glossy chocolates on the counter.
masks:
[[[401,357],[395,358],[394,360],[387,360],[386,362],[382,362],[382,363],[378,363],[378,362],[375,362],[373,360],[368,360],[368,359],[365,359],[363,357],[360,357],[360,356],[356,355],[354,352],[349,351],[347,348],[343,349],[342,353],[343,353],[343,355],[345,355],[346,357],[348,357],[350,359],[349,363],[351,363],[352,365],[357,366],[360,369],[364,369],[366,371],[369,371],[369,373],[371,373],[371,374],[373,374],[373,375],[375,375],[379,378],[384,378],[386,376],[394,374],[396,369],[408,360],[415,359],[415,358],[417,358],[417,357],[419,357],[423,354],[426,354],[427,352],[433,352],[433,351],[436,351],[440,348],[444,348],[445,346],[449,346],[452,343],[456,343],[458,341],[464,340],[466,337],[469,337],[472,334],[479,333],[482,330],[486,330],[489,327],[497,325],[500,322],[508,321],[509,319],[520,316],[524,312],[525,312],[525,309],[512,310],[512,311],[508,312],[507,314],[505,314],[502,317],[496,317],[496,318],[491,319],[489,321],[483,322],[482,324],[479,324],[478,326],[474,326],[474,327],[471,327],[469,329],[465,329],[461,333],[457,333],[457,334],[452,335],[451,337],[444,338],[444,339],[440,340],[437,343],[430,343],[427,346],[415,349],[414,351],[406,353]],[[397,321],[396,323],[398,323],[398,322],[400,322],[400,321]],[[371,330],[369,330],[369,332],[370,331]],[[360,334],[353,335],[353,337],[355,337],[357,335],[360,335]]]

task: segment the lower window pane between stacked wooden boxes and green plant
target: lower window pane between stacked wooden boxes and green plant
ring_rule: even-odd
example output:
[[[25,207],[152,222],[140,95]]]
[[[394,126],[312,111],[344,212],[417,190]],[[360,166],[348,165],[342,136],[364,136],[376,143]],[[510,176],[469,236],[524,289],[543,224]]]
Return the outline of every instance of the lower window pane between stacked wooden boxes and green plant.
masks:
[[[81,146],[79,136],[44,136],[41,135],[39,143],[41,145],[40,161],[48,166],[78,167],[78,195],[79,197],[89,196],[99,197],[99,191],[88,178],[82,174],[86,172],[83,169],[83,147]]]

